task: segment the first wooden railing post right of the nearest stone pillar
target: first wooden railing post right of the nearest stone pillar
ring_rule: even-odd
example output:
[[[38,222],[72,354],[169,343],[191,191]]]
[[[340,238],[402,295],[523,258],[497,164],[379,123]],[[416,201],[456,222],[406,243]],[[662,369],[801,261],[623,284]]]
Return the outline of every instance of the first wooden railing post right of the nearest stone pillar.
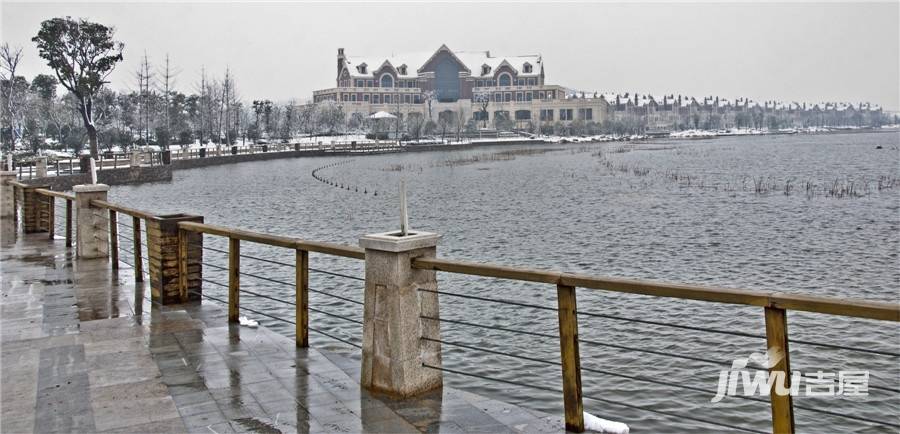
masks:
[[[584,404],[581,400],[581,356],[578,352],[575,287],[557,285],[556,294],[559,305],[559,349],[562,358],[566,430],[583,432]]]

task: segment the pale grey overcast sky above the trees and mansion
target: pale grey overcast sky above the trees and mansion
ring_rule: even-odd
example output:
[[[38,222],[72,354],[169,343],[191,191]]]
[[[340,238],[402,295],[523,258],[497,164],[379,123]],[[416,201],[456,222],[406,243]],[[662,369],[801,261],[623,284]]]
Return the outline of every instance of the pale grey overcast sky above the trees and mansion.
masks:
[[[601,92],[871,101],[900,109],[900,2],[886,3],[83,3],[8,2],[4,42],[21,74],[48,68],[31,42],[44,19],[115,26],[135,88],[146,51],[166,53],[193,91],[201,67],[237,78],[243,99],[304,101],[335,84],[348,55],[437,49],[543,55],[548,83]]]

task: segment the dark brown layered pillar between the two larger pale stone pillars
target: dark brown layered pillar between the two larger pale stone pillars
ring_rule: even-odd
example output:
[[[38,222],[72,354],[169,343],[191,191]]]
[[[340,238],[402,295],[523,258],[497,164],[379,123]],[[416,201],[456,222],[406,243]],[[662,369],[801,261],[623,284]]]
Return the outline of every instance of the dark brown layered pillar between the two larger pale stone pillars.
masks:
[[[150,297],[162,304],[200,300],[203,261],[203,236],[185,232],[187,246],[179,251],[178,223],[203,223],[202,216],[172,214],[147,220],[147,262],[150,265]],[[180,262],[186,255],[186,267]],[[187,290],[182,291],[182,273]]]

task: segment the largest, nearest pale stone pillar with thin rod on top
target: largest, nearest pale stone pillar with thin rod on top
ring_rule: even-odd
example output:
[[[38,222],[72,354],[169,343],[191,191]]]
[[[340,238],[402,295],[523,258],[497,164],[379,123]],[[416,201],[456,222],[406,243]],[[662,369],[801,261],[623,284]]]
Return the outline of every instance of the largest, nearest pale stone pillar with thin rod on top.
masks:
[[[434,257],[440,235],[397,232],[366,235],[366,290],[363,308],[363,387],[408,397],[443,385],[440,324],[420,316],[439,316],[435,272],[416,270],[410,260]]]

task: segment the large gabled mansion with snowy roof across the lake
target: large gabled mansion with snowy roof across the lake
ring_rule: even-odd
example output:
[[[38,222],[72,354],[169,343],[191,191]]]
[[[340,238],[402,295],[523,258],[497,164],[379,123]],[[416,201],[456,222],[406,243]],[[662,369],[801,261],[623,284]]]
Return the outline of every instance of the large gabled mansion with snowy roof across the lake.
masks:
[[[479,126],[515,128],[599,122],[606,112],[600,98],[572,97],[562,86],[547,84],[539,54],[492,56],[442,45],[433,53],[357,58],[339,48],[335,85],[313,92],[313,101],[338,101],[346,113],[420,113],[432,119],[462,110]]]

